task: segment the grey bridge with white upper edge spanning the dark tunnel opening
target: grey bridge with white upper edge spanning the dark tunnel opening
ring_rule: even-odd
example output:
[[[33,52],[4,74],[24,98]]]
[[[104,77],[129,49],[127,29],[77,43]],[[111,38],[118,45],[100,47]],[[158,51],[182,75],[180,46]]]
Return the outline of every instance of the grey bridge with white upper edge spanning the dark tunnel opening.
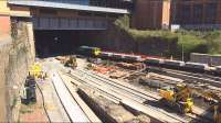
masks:
[[[17,9],[29,8],[30,15],[23,18],[31,18],[34,30],[106,30],[114,19],[129,13],[117,5],[101,7],[86,0],[10,0],[8,3]]]

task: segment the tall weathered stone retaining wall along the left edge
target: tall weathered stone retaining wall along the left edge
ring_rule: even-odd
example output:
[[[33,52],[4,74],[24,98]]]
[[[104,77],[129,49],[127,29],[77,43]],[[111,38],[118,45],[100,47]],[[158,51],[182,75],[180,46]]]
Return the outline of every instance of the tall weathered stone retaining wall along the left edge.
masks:
[[[19,114],[20,91],[34,62],[32,24],[17,21],[13,36],[1,38],[0,44],[0,121],[15,122]]]

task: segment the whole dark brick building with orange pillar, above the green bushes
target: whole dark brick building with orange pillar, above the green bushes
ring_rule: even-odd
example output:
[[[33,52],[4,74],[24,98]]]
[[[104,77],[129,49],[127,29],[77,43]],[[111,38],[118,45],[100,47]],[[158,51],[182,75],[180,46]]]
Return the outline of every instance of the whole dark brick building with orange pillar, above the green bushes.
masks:
[[[135,0],[133,27],[221,29],[221,0]]]

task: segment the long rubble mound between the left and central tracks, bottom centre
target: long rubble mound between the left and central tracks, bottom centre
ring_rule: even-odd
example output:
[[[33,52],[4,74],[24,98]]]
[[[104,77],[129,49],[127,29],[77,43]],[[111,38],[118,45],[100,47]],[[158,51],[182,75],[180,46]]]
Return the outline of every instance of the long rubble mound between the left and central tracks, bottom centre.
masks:
[[[86,99],[86,102],[90,103],[91,108],[94,109],[96,114],[99,118],[103,118],[103,122],[112,122],[112,123],[137,123],[137,122],[150,122],[150,119],[147,115],[134,115],[129,111],[127,111],[123,105],[116,104],[104,98],[99,92],[94,91],[90,88],[82,87],[80,93],[83,99]]]

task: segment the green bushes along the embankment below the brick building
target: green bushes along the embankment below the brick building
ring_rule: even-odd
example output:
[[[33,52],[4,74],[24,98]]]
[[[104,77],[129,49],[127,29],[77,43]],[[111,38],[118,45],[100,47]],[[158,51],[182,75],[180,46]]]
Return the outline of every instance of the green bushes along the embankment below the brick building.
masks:
[[[130,24],[128,15],[117,19],[115,21],[115,25],[131,36],[135,42],[148,42],[151,41],[149,38],[156,37],[161,38],[165,42],[177,40],[177,54],[180,54],[182,48],[186,54],[190,54],[192,52],[221,54],[221,31],[139,31],[129,29]]]

